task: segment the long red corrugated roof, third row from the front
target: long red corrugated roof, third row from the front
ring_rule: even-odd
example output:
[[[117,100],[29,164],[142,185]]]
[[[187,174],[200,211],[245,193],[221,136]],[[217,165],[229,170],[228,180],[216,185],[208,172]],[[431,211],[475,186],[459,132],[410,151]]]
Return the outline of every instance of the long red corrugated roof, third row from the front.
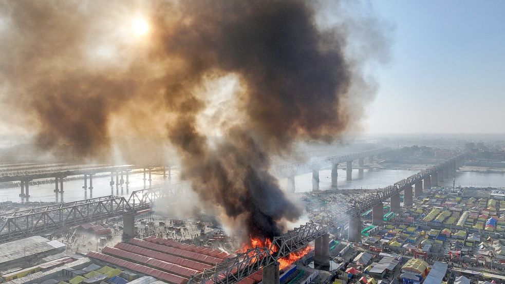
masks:
[[[170,255],[170,254],[164,254],[161,252],[148,250],[148,249],[145,249],[142,247],[137,247],[136,245],[127,244],[124,242],[117,243],[114,247],[118,248],[120,250],[123,250],[123,251],[128,251],[128,252],[144,255],[147,257],[152,257],[152,258],[156,258],[159,260],[163,260],[166,262],[174,263],[179,266],[194,269],[194,270],[197,270],[200,272],[202,272],[205,268],[212,267],[209,264],[204,264],[204,263],[197,262],[197,261],[194,261],[191,259],[185,259],[182,257]]]

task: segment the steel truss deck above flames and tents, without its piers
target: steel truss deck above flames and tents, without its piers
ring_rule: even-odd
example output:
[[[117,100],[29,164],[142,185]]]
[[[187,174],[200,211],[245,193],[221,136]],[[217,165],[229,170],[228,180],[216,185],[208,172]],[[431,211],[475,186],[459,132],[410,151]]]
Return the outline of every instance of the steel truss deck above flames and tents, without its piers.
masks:
[[[375,154],[377,155],[377,154]],[[357,158],[354,158],[357,159]],[[416,182],[443,171],[444,168],[455,168],[456,163],[464,161],[464,154],[446,160],[441,164],[429,167],[423,171],[400,180],[394,185],[379,188],[376,193],[366,195],[359,200],[356,206],[343,206],[324,217],[321,221],[310,221],[286,234],[275,237],[269,248],[254,248],[236,257],[226,259],[215,267],[205,269],[202,273],[193,275],[189,284],[231,284],[237,282],[259,269],[277,262],[278,258],[287,256],[291,252],[299,250],[316,238],[319,238],[338,226],[359,217],[370,210],[373,206],[384,202],[391,196],[397,195]]]

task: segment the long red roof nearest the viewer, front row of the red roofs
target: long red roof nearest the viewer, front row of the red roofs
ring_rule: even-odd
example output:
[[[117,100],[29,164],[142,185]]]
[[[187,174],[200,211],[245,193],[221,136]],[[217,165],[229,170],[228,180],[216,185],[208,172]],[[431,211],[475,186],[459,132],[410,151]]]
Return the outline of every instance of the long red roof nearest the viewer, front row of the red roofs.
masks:
[[[123,259],[119,259],[110,255],[105,255],[97,252],[90,251],[86,254],[87,257],[99,259],[105,262],[109,262],[115,264],[116,266],[123,267],[129,270],[133,270],[135,272],[139,272],[145,275],[153,276],[157,279],[169,282],[171,284],[185,284],[188,282],[188,279],[183,277],[166,273],[157,269],[149,268],[146,266],[142,266],[140,264],[132,263]]]

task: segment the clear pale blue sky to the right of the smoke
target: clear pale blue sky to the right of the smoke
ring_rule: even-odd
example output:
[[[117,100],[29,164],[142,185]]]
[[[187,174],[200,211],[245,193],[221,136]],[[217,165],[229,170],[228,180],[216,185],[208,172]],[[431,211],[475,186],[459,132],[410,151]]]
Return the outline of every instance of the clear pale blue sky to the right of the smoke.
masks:
[[[505,1],[373,2],[394,23],[368,132],[505,132]]]

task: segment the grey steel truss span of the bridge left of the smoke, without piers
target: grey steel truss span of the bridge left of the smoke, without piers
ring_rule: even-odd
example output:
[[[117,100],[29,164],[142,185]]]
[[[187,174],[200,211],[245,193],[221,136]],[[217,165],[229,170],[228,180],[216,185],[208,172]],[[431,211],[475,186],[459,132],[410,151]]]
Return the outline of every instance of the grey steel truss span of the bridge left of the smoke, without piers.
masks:
[[[186,188],[188,184],[178,183],[134,191],[128,199],[109,195],[0,214],[0,242],[135,214],[149,209],[157,199],[179,195]]]

